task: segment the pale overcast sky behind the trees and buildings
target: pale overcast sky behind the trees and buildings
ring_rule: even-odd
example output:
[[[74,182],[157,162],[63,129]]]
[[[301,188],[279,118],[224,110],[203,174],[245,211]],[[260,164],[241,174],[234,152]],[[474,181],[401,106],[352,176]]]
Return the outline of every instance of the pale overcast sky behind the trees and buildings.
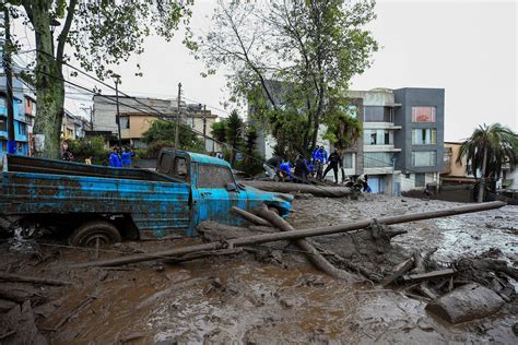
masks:
[[[191,26],[196,33],[207,32],[216,1],[195,2]],[[353,79],[351,88],[445,88],[446,141],[469,136],[482,122],[498,121],[517,131],[517,11],[511,0],[378,0],[378,17],[370,29],[382,48],[373,67]],[[181,39],[181,32],[172,43],[149,38],[144,53],[116,71],[122,76],[121,90],[176,97],[181,82],[187,102],[207,104],[226,116],[221,105],[226,100],[224,72],[201,78],[202,62],[190,56]],[[143,78],[134,76],[136,63]],[[70,96],[80,98],[67,102],[71,110],[87,104],[81,95]]]

